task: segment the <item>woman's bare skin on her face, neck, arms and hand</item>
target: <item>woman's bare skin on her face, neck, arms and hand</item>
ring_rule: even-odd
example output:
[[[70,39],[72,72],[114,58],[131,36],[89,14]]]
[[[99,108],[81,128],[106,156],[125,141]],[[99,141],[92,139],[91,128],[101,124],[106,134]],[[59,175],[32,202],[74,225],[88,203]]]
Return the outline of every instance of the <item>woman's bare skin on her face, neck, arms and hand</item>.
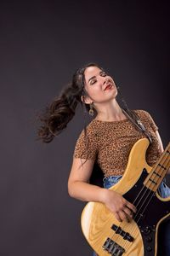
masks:
[[[88,67],[85,70],[85,90],[87,96],[82,98],[86,104],[93,104],[97,111],[95,119],[103,121],[116,121],[126,119],[122,113],[122,108],[116,102],[116,84],[114,80],[101,71],[99,67]],[[163,146],[161,137],[156,131],[161,151]],[[84,163],[82,165],[82,163]],[[133,212],[136,208],[125,200],[122,195],[109,189],[103,189],[89,184],[89,178],[92,174],[94,160],[81,160],[74,158],[71,166],[71,173],[68,180],[69,195],[81,201],[99,201],[105,204],[115,215],[118,221],[133,218]]]

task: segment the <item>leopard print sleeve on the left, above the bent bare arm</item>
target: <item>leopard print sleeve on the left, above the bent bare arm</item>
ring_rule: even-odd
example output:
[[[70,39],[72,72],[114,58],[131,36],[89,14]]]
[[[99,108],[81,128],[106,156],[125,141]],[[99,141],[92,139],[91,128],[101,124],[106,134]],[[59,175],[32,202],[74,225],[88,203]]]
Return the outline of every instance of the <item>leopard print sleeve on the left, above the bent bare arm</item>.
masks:
[[[97,155],[97,138],[93,131],[84,130],[77,139],[73,156],[82,159],[95,159]]]

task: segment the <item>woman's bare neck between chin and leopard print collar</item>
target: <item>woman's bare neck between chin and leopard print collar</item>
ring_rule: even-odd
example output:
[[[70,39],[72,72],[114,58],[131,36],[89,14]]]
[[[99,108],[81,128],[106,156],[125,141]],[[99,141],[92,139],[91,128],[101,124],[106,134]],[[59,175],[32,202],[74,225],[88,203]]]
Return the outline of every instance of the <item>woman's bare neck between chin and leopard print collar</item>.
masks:
[[[119,121],[126,119],[126,116],[122,112],[122,108],[119,106],[115,99],[112,102],[106,102],[102,106],[95,107],[98,112],[95,119],[101,121]]]

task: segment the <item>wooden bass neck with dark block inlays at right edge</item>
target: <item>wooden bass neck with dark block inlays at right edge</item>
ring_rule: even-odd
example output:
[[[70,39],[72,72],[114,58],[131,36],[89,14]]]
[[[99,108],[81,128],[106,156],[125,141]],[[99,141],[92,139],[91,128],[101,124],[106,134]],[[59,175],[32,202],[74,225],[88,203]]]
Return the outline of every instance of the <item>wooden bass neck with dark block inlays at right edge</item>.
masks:
[[[148,189],[156,192],[161,181],[165,177],[168,169],[170,168],[170,143],[168,143],[167,148],[161,154],[160,159],[153,166],[152,171],[144,180],[144,186]]]

